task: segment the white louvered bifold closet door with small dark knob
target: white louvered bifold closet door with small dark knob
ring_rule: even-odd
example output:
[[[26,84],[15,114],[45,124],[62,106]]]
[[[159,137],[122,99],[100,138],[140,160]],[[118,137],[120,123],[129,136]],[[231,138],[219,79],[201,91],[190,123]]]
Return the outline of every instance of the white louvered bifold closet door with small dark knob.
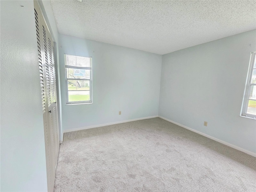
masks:
[[[48,191],[52,192],[54,188],[55,170],[60,146],[58,105],[56,102],[57,94],[54,42],[46,26],[38,2],[36,1],[34,1],[34,12],[44,119],[47,185]]]

